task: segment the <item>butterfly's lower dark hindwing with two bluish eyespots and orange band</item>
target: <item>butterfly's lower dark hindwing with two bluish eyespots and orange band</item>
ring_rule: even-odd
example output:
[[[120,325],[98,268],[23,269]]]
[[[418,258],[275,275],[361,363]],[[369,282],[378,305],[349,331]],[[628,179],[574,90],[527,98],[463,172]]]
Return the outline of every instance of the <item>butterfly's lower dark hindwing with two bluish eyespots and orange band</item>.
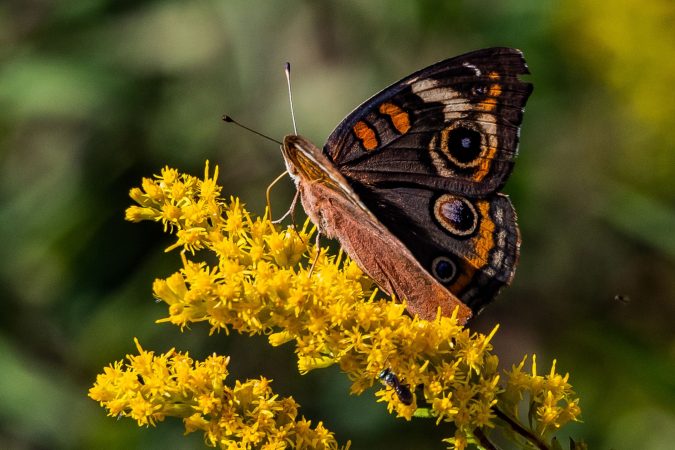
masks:
[[[354,190],[370,208],[378,205],[373,209],[384,226],[474,312],[513,278],[520,236],[507,196],[477,199],[428,188],[362,184],[354,184]]]

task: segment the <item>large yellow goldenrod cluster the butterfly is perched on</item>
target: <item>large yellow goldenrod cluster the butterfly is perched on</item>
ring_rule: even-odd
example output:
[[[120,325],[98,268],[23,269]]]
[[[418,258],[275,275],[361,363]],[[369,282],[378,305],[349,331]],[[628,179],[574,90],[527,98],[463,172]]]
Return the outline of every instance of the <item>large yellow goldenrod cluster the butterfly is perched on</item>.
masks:
[[[427,416],[447,425],[450,448],[485,446],[486,431],[502,426],[504,417],[518,420],[524,394],[537,405],[532,432],[539,437],[577,419],[578,401],[555,367],[547,383],[514,368],[501,387],[490,344],[497,327],[484,335],[460,326],[454,316],[410,317],[404,304],[378,298],[372,281],[349,258],[311,245],[307,222],[281,229],[267,215],[252,217],[238,199],[223,200],[217,174],[217,168],[209,174],[208,163],[203,179],[165,168],[131,190],[138,205],[127,210],[127,219],[162,222],[176,236],[167,251],[182,250],[183,268],[153,286],[169,306],[160,321],[266,334],[275,346],[292,342],[301,373],[338,364],[355,394],[389,369],[413,401],[402,402],[382,385],[380,401],[405,419]],[[216,262],[196,260],[197,250]]]

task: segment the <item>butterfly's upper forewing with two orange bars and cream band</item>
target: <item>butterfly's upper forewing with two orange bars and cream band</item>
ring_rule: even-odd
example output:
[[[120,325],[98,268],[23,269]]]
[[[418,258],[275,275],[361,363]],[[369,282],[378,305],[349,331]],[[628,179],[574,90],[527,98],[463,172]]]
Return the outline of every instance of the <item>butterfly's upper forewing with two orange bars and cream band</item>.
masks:
[[[517,153],[531,85],[520,51],[478,50],[423,69],[352,112],[324,153],[348,179],[471,196],[497,191]]]

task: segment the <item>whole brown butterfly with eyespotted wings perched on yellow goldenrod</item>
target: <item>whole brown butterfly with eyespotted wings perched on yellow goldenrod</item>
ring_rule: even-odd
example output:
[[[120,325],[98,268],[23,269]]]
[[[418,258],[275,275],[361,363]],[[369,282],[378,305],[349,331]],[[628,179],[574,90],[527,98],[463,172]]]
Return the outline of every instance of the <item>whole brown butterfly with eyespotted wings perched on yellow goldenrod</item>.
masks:
[[[302,206],[382,290],[460,323],[511,282],[511,173],[532,85],[522,53],[488,48],[409,75],[350,113],[323,149],[288,135]]]

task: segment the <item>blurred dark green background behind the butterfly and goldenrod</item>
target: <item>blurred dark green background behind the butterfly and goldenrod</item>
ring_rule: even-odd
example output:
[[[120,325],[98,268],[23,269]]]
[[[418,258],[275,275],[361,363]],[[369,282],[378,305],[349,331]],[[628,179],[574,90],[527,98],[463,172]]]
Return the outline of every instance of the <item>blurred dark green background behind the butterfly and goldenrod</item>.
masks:
[[[443,448],[447,430],[350,397],[337,370],[300,376],[292,347],[180,333],[151,283],[179,264],[157,224],[123,220],[164,165],[220,165],[224,194],[262,213],[278,148],[220,121],[320,145],[370,95],[438,60],[524,51],[534,83],[506,187],[522,256],[474,322],[501,323],[504,367],[553,358],[593,448],[675,442],[675,3],[671,0],[124,1],[0,4],[0,448],[199,448],[176,421],[105,417],[86,397],[109,362],[175,346],[232,356],[354,449]],[[277,210],[292,196],[275,191]],[[620,296],[616,299],[616,296]]]

